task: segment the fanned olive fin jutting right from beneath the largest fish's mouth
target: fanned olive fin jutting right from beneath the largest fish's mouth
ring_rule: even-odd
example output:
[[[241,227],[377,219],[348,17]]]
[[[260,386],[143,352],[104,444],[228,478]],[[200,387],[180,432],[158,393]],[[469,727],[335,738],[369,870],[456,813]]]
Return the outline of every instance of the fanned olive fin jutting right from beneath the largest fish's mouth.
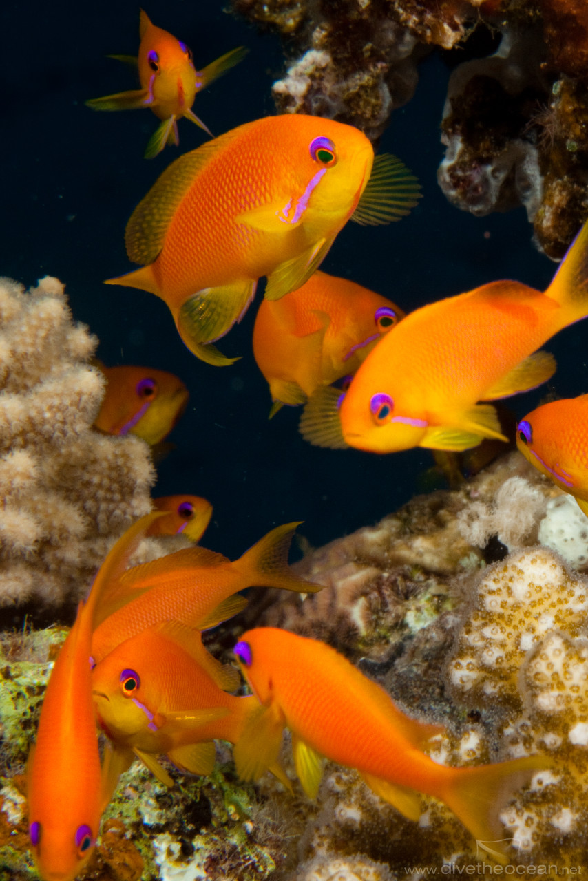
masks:
[[[406,165],[391,153],[383,153],[374,159],[372,173],[351,219],[362,226],[391,223],[410,213],[420,198],[421,185]]]

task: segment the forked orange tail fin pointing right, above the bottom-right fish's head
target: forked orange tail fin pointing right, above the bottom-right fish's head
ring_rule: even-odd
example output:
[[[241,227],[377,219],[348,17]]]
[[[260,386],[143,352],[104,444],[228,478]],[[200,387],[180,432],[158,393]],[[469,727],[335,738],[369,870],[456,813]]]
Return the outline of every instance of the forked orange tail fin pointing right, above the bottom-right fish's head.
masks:
[[[288,566],[288,551],[297,526],[300,521],[277,526],[234,561],[233,566],[248,579],[249,585],[295,590],[303,594],[323,589],[322,584],[297,578]]]

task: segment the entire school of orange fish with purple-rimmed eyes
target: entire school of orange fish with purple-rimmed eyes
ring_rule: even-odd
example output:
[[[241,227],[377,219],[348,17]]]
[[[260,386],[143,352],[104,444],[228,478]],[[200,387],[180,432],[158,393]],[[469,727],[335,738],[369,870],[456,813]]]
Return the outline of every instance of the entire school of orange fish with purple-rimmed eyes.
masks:
[[[141,89],[87,103],[153,110],[161,122],[145,152],[151,157],[178,144],[182,117],[208,131],[193,101],[245,50],[198,71],[190,49],[144,11],[140,38],[138,59],[115,57],[138,66]],[[347,220],[388,223],[419,195],[406,167],[391,156],[375,158],[352,126],[304,115],[248,122],[161,174],[126,229],[128,255],[140,268],[108,284],[156,294],[190,351],[223,366],[234,359],[214,344],[241,319],[266,276],[253,349],[269,383],[271,415],[303,404],[301,432],[318,445],[389,453],[506,441],[488,402],[547,381],[555,360],[540,346],[588,315],[588,226],[546,292],[495,281],[406,317],[380,294],[318,270]],[[108,389],[96,429],[159,444],[186,405],[183,383],[150,368],[97,367]],[[341,388],[333,385],[344,378]],[[521,452],[588,515],[587,438],[588,396],[548,403],[517,426]],[[247,601],[240,591],[250,586],[320,589],[288,568],[297,524],[272,529],[230,561],[196,544],[212,514],[206,500],[174,496],[155,505],[108,553],[49,678],[27,771],[30,841],[42,877],[78,875],[133,759],[173,786],[158,756],[210,774],[220,738],[234,744],[244,780],[270,771],[291,788],[280,762],[286,728],[309,797],[323,759],[331,759],[357,769],[407,818],[419,818],[418,794],[427,793],[476,839],[502,838],[505,782],[522,785],[548,759],[440,766],[423,751],[439,727],[401,713],[332,648],[275,628],[250,630],[234,647],[252,692],[234,697],[237,670],[207,652],[201,633],[241,611]],[[143,537],[176,532],[195,544],[127,568]],[[97,727],[107,737],[101,762]],[[500,845],[487,849],[505,862]]]

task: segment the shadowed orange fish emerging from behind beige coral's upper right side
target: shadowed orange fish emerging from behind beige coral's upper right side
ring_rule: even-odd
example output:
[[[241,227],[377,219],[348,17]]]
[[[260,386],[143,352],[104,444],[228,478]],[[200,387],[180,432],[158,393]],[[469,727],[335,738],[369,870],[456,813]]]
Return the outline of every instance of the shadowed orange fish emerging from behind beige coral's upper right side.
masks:
[[[105,367],[108,385],[94,428],[107,434],[136,434],[154,446],[182,416],[189,392],[174,374],[153,367]]]

